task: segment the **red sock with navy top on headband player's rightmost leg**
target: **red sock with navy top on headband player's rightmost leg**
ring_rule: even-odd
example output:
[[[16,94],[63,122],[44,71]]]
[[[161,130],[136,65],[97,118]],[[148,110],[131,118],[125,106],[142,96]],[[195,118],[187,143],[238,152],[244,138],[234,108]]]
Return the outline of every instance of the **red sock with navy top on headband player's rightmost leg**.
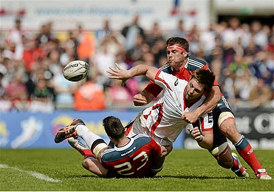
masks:
[[[250,143],[248,140],[242,136],[241,140],[234,144],[239,155],[248,163],[248,165],[253,169],[255,175],[258,169],[262,169]]]

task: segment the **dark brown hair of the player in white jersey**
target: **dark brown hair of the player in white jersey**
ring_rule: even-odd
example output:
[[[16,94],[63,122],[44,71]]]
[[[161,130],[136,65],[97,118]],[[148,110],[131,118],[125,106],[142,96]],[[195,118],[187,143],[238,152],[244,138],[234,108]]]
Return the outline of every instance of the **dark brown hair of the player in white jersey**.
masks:
[[[192,74],[190,80],[193,78],[197,79],[200,84],[204,85],[204,92],[211,91],[215,80],[215,75],[209,69],[196,69]]]

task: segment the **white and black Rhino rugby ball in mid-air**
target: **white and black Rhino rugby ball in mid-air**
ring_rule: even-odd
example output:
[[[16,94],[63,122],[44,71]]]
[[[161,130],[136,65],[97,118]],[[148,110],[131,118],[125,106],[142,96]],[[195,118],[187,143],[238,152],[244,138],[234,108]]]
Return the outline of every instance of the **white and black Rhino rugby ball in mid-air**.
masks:
[[[85,61],[75,60],[65,65],[63,76],[71,82],[78,82],[86,78],[89,65]]]

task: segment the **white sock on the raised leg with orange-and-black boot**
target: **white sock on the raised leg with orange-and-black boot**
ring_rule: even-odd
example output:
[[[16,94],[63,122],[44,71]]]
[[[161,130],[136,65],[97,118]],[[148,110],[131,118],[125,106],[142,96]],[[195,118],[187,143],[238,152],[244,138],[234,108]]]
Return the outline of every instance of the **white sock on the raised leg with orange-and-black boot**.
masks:
[[[81,137],[87,143],[89,148],[91,148],[91,145],[94,141],[96,141],[97,139],[102,139],[95,133],[89,131],[89,129],[85,125],[81,125],[81,124],[78,125],[76,127],[76,130],[77,130],[77,135]]]

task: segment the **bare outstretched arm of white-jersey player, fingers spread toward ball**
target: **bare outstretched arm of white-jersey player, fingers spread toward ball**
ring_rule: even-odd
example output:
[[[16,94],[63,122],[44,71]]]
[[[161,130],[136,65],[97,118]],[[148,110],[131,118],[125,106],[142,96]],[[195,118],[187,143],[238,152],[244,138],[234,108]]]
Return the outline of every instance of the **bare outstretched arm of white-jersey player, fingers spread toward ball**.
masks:
[[[117,63],[115,63],[115,65],[117,68],[110,67],[110,70],[107,71],[111,74],[111,76],[109,76],[109,79],[122,80],[122,86],[129,78],[132,78],[132,76],[139,75],[146,75],[149,80],[154,82],[154,78],[159,70],[155,67],[143,64],[136,65],[129,70],[121,68]]]

